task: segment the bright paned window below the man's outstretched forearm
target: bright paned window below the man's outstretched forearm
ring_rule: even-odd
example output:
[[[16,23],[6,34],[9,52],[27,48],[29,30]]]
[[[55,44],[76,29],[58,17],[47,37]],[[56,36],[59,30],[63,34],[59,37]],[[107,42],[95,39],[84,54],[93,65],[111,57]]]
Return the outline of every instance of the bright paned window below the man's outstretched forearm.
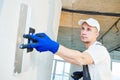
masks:
[[[51,80],[69,80],[70,63],[54,59]]]

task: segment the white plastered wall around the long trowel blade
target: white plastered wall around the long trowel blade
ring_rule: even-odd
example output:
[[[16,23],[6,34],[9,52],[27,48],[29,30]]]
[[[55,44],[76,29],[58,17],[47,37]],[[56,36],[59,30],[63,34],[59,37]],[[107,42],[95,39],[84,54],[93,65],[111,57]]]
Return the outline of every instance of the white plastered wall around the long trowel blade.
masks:
[[[61,0],[4,0],[0,9],[0,79],[50,80],[53,59],[50,52],[27,54],[24,50],[22,72],[13,72],[21,3],[30,10],[26,32],[32,26],[36,32],[46,32],[51,38],[57,38]]]

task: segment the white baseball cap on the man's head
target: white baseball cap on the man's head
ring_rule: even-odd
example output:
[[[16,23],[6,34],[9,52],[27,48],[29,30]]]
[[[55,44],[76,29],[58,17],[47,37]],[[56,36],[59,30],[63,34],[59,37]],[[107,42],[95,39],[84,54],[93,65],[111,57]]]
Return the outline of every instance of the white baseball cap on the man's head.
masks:
[[[86,22],[90,26],[96,27],[98,32],[100,31],[100,25],[99,25],[99,22],[96,19],[89,18],[87,20],[79,20],[78,25],[82,25],[84,22]]]

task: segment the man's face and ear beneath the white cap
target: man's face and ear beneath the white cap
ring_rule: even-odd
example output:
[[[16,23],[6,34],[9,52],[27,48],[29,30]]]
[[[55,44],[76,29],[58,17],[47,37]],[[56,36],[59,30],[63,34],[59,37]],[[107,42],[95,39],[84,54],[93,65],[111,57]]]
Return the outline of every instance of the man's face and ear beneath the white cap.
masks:
[[[96,38],[98,37],[99,32],[95,27],[92,27],[88,25],[86,22],[82,24],[81,27],[81,41],[84,43],[89,43],[96,41]]]

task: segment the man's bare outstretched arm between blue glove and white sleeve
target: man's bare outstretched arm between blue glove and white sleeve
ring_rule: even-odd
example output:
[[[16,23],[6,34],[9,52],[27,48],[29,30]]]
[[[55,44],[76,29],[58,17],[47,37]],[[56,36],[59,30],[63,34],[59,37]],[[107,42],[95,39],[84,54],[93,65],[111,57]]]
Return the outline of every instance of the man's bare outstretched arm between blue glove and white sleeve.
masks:
[[[93,59],[88,53],[82,53],[77,50],[72,50],[62,45],[60,45],[56,55],[62,57],[67,62],[77,65],[86,65],[93,63]]]

